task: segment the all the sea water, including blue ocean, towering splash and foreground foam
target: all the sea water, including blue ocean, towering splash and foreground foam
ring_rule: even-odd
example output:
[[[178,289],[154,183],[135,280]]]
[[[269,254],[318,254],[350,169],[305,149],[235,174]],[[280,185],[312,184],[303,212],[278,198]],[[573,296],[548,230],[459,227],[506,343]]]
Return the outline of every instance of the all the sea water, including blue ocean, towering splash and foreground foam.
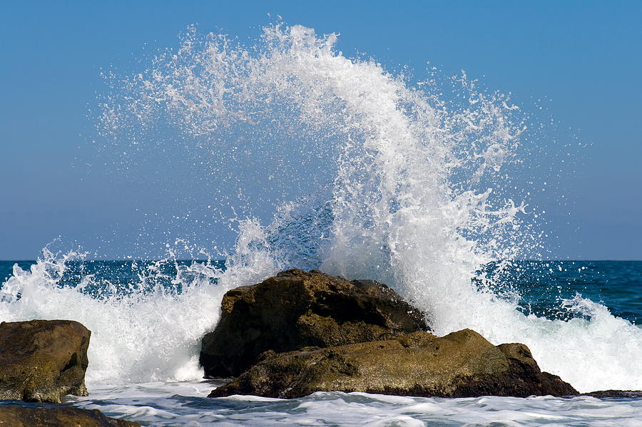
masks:
[[[181,195],[188,212],[147,212],[175,219],[153,227],[207,217],[233,244],[183,260],[179,237],[156,261],[46,246],[35,262],[0,263],[0,320],[81,321],[91,396],[70,403],[149,426],[641,425],[640,399],[204,397],[215,384],[202,380],[200,337],[223,294],[288,267],[389,284],[437,334],[523,342],[579,391],[642,389],[641,263],[523,261],[546,257],[536,195],[554,196],[541,176],[550,145],[529,115],[464,73],[418,81],[336,43],[297,25],[246,44],[190,29],[140,70],[106,73],[101,161],[135,182],[170,170],[164,153],[186,156],[181,173],[207,200]]]

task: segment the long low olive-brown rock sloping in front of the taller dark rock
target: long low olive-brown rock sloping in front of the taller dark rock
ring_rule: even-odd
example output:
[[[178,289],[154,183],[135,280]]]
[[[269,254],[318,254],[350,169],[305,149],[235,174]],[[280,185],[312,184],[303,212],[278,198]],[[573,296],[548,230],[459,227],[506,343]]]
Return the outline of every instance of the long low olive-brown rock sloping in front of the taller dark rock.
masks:
[[[401,396],[567,396],[577,391],[541,372],[524,344],[494,346],[470,329],[438,337],[415,332],[387,341],[285,354],[267,352],[210,397],[296,398],[315,391]]]

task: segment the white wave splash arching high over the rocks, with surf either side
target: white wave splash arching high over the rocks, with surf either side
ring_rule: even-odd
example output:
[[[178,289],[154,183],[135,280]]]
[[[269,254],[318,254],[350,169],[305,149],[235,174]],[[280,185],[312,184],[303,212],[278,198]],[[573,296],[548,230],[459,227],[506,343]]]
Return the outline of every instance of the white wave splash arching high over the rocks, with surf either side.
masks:
[[[226,289],[282,267],[320,267],[390,284],[439,334],[471,327],[495,344],[524,342],[543,369],[582,391],[642,388],[642,333],[606,307],[577,297],[566,305],[584,317],[524,316],[493,277],[472,282],[481,265],[541,245],[535,216],[506,192],[504,170],[525,130],[519,109],[465,75],[453,80],[463,101],[444,98],[434,81],[413,86],[343,56],[336,41],[276,25],[245,48],[191,29],[146,71],[108,76],[103,138],[149,151],[158,140],[150,135],[178,131],[181,149],[207,155],[203,174],[223,189],[213,196],[220,205],[239,216],[276,213],[267,225],[240,222],[228,269],[194,265],[190,277],[200,279],[180,295],[91,299],[57,287],[48,271],[64,262],[44,257],[4,285],[0,317],[83,321],[94,330],[97,381],[190,376],[185,366]],[[254,204],[258,195],[270,202]]]

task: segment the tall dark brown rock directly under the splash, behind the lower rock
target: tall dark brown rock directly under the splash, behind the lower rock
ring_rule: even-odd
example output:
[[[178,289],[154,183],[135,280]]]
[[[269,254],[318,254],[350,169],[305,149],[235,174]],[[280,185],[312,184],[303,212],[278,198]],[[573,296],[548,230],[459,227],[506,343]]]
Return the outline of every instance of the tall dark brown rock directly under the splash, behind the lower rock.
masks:
[[[238,376],[267,350],[340,346],[426,329],[422,313],[386,285],[316,270],[291,269],[232,289],[221,306],[200,353],[210,377]]]

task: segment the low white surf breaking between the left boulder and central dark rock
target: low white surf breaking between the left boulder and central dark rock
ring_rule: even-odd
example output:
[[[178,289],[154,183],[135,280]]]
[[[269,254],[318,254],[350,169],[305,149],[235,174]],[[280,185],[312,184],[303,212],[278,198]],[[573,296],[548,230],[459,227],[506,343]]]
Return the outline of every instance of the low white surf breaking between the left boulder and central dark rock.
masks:
[[[235,253],[223,272],[213,262],[175,266],[172,284],[161,284],[159,262],[137,270],[138,279],[121,287],[95,274],[76,286],[61,284],[71,262],[83,254],[56,254],[45,248],[29,271],[14,267],[0,289],[0,319],[71,319],[91,330],[87,384],[186,381],[203,377],[198,366],[200,338],[215,326],[220,300],[228,290],[277,272],[272,257],[253,245],[256,227],[243,227]],[[260,237],[258,237],[260,239]],[[165,259],[163,262],[172,262]]]

